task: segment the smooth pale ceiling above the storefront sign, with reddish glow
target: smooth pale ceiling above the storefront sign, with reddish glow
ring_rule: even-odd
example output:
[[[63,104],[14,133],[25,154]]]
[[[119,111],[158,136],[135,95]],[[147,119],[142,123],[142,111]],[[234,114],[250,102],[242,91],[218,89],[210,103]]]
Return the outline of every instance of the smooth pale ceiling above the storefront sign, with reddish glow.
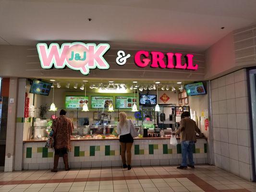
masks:
[[[98,40],[199,53],[255,23],[255,7],[255,0],[2,0],[0,44]]]

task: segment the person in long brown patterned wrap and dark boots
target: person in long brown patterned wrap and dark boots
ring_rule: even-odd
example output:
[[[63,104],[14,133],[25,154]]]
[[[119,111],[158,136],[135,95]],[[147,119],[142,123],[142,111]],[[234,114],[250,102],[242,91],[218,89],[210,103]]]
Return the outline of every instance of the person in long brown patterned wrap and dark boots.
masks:
[[[67,118],[66,111],[61,109],[60,117],[53,120],[51,128],[53,130],[54,137],[54,163],[52,172],[58,171],[58,163],[60,154],[63,155],[63,161],[65,165],[65,170],[69,170],[68,166],[68,153],[67,151],[71,151],[71,134],[73,132],[74,126],[73,122]]]

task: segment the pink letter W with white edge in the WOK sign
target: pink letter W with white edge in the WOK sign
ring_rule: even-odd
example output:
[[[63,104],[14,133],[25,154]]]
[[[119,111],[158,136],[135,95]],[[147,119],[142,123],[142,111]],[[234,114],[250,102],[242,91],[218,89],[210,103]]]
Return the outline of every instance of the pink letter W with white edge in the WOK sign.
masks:
[[[46,46],[45,45],[39,45],[40,54],[41,54],[41,63],[44,67],[51,67],[52,66],[52,60],[55,58],[54,65],[57,67],[64,67],[64,61],[65,61],[65,53],[68,51],[69,46],[64,45],[63,50],[61,52],[61,56],[59,55],[59,47],[57,45],[53,45],[50,47],[49,55],[47,56],[46,53]]]

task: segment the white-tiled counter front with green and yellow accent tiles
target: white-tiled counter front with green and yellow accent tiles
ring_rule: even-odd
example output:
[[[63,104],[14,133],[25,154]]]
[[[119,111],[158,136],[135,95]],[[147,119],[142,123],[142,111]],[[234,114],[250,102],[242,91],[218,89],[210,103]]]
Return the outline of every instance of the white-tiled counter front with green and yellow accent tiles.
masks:
[[[23,144],[23,169],[53,167],[54,150],[45,147],[46,139],[32,139]],[[178,165],[181,163],[181,144],[170,144],[170,137],[134,138],[132,166]],[[68,153],[71,168],[122,166],[119,138],[72,138]],[[197,137],[194,145],[195,164],[207,163],[207,138]],[[59,168],[64,168],[60,158]]]

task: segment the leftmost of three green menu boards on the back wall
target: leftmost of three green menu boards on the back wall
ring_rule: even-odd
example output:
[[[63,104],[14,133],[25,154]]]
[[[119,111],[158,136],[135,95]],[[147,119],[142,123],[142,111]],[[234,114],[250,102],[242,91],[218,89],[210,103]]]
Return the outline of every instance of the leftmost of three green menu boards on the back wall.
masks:
[[[83,108],[84,103],[88,104],[88,96],[66,96],[65,108]]]

